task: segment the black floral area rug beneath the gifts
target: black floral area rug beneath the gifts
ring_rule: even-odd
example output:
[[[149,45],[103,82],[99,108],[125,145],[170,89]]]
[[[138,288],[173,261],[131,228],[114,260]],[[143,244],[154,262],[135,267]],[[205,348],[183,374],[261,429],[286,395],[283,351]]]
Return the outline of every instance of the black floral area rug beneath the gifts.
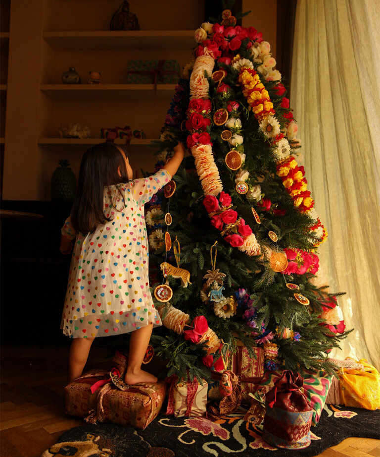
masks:
[[[84,425],[65,432],[42,457],[189,457],[294,456],[261,438],[261,430],[243,420],[244,411],[211,422],[205,417],[159,415],[145,430],[113,424]],[[380,438],[380,411],[326,405],[311,427],[311,445],[297,456],[311,457],[348,437]]]

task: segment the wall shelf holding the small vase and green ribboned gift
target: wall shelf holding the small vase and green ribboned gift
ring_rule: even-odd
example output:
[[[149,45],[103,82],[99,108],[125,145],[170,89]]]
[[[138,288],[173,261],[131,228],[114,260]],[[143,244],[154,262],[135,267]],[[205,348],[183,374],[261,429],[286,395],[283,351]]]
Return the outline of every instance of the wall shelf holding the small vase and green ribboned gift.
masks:
[[[40,90],[51,100],[154,100],[170,99],[175,84],[42,84]]]

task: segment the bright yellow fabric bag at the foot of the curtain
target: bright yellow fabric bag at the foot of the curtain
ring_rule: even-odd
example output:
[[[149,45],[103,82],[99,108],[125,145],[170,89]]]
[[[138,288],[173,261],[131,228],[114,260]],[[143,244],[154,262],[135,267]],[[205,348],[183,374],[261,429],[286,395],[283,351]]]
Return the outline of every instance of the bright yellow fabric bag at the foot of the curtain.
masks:
[[[355,408],[379,409],[380,373],[366,359],[360,359],[358,363],[364,366],[364,370],[341,368],[338,373],[343,404]]]

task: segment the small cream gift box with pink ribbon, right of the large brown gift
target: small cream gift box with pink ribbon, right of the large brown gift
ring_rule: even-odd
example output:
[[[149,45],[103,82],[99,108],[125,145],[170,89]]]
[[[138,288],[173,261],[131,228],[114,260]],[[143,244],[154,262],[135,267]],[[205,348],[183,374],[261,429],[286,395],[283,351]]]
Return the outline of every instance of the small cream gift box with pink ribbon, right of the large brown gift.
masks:
[[[202,386],[196,378],[192,382],[172,381],[166,414],[176,417],[198,417],[206,414],[207,382]]]

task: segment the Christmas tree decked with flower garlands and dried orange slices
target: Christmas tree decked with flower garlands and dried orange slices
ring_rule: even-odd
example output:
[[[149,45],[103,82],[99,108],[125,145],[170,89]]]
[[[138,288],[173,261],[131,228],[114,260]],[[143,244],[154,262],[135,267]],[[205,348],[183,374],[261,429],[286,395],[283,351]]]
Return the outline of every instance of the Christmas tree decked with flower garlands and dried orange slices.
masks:
[[[327,233],[298,165],[300,140],[270,44],[230,10],[195,31],[162,131],[157,169],[190,150],[146,207],[167,374],[210,376],[238,342],[265,368],[331,373],[346,336],[339,294],[315,286]],[[155,283],[155,284],[154,284]],[[224,356],[222,356],[224,354]]]

